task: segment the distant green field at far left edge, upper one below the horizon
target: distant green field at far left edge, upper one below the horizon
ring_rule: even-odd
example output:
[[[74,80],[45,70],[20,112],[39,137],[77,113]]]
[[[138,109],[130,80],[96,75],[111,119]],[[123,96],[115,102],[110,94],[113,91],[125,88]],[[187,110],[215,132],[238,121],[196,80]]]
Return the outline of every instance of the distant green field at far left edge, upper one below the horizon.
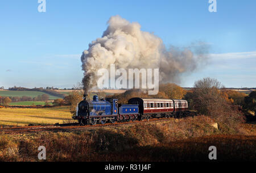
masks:
[[[43,95],[43,94],[47,94],[47,93],[40,92],[40,91],[0,91],[0,96],[18,96],[18,97],[30,96],[31,98],[34,98],[38,95]],[[60,98],[61,97],[49,95],[50,100],[60,99]]]

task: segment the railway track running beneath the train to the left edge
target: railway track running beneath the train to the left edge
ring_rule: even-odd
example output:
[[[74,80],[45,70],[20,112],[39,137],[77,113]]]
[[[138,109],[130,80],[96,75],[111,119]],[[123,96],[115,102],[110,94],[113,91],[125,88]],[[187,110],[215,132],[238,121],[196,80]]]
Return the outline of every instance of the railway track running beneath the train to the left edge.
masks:
[[[19,126],[19,127],[12,127],[12,128],[0,128],[0,132],[4,132],[6,134],[9,133],[27,133],[27,132],[39,132],[44,130],[65,130],[65,129],[85,129],[85,128],[97,128],[101,126],[116,126],[116,125],[129,125],[129,124],[139,124],[139,123],[146,123],[146,122],[154,122],[154,121],[164,121],[170,118],[153,118],[150,120],[135,120],[129,121],[124,123],[106,123],[106,124],[96,124],[96,125],[84,125],[80,126],[79,123],[68,123],[68,124],[55,124],[55,125],[36,125],[36,126]]]

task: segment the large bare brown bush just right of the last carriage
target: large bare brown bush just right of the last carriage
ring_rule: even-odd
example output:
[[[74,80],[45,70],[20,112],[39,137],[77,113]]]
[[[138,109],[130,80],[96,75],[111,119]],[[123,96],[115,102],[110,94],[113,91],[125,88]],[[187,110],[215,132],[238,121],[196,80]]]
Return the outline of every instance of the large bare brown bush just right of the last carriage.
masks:
[[[191,92],[187,92],[185,99],[190,108],[199,114],[212,117],[222,127],[234,127],[244,120],[237,106],[232,106],[218,88],[221,83],[216,79],[204,78],[195,82]]]

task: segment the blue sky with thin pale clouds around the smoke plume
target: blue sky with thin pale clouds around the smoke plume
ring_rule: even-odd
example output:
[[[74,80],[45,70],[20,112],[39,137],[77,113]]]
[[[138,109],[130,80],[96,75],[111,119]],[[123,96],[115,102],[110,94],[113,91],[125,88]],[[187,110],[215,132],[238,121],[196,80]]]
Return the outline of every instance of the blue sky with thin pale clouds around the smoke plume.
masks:
[[[256,87],[256,1],[61,1],[0,2],[0,86],[72,87],[83,76],[80,55],[120,15],[154,32],[166,47],[196,41],[210,45],[207,66],[184,75],[191,87],[203,77],[226,87]]]

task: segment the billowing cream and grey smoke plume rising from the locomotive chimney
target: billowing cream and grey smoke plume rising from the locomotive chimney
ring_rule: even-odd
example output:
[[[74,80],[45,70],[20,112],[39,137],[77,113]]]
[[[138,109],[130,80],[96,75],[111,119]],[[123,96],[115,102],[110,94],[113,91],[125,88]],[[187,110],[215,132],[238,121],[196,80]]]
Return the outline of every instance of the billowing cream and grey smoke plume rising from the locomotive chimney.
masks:
[[[97,86],[97,71],[109,69],[159,68],[160,82],[180,82],[181,74],[191,73],[207,62],[207,44],[194,43],[187,48],[166,49],[162,39],[141,31],[137,22],[130,23],[112,16],[101,38],[89,44],[81,56],[84,90]],[[127,70],[128,71],[128,70]]]

